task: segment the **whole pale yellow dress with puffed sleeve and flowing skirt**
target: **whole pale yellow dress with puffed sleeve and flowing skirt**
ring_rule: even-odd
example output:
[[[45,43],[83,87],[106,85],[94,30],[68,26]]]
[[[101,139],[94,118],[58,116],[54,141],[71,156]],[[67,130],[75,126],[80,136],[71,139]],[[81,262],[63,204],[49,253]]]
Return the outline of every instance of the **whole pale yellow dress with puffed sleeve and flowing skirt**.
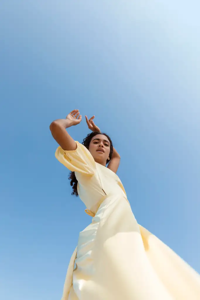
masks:
[[[62,300],[199,300],[199,274],[137,223],[118,176],[76,144],[74,151],[58,147],[55,156],[75,171],[94,217],[79,234]]]

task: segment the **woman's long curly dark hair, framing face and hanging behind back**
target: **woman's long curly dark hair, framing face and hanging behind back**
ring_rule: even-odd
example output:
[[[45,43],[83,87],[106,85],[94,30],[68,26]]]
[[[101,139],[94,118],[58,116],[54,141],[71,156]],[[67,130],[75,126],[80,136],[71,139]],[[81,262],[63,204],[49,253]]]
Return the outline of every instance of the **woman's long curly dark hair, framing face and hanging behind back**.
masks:
[[[89,133],[89,134],[87,135],[87,137],[83,140],[82,144],[83,144],[87,149],[89,149],[89,145],[90,145],[91,139],[92,139],[93,137],[95,137],[95,135],[97,135],[97,134],[103,134],[103,135],[105,135],[105,136],[108,138],[108,140],[109,140],[109,142],[110,142],[110,154],[109,154],[109,157],[110,157],[110,159],[111,159],[112,153],[113,153],[113,145],[112,145],[112,141],[111,141],[110,137],[109,137],[107,134],[105,134],[105,133],[99,133],[99,132],[92,132],[92,133]],[[108,164],[108,163],[109,163],[109,160],[106,161],[106,164]],[[72,195],[78,196],[78,195],[79,195],[79,194],[78,194],[78,191],[77,191],[77,183],[78,183],[78,180],[76,179],[76,176],[75,176],[75,173],[74,173],[74,172],[70,172],[70,177],[69,177],[69,179],[71,180],[70,185],[72,186],[72,189],[73,189]]]

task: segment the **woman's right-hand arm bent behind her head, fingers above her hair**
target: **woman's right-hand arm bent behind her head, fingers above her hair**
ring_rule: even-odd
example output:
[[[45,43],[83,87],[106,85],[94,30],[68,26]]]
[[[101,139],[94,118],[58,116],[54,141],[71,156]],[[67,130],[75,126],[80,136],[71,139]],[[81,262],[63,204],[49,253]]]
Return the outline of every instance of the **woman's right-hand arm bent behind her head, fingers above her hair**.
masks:
[[[91,131],[97,131],[97,132],[101,132],[100,131],[100,128],[97,127],[97,125],[94,124],[94,116],[91,117],[89,120],[88,120],[88,117],[85,116],[85,119],[86,119],[86,122],[88,124],[88,128],[91,130]],[[120,163],[120,155],[118,154],[118,152],[116,151],[116,149],[113,147],[113,153],[112,153],[112,157],[109,161],[109,164],[108,164],[108,167],[112,172],[114,173],[117,173],[117,170],[118,170],[118,167],[119,167],[119,163]]]

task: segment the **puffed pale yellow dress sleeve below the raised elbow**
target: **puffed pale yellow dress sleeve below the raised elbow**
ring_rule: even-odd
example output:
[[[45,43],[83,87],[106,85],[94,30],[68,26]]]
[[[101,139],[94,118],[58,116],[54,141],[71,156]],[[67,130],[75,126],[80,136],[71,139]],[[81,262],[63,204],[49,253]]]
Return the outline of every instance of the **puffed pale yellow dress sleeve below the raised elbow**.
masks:
[[[85,175],[94,175],[95,161],[88,149],[76,141],[76,150],[63,150],[61,146],[56,149],[55,157],[67,169]]]

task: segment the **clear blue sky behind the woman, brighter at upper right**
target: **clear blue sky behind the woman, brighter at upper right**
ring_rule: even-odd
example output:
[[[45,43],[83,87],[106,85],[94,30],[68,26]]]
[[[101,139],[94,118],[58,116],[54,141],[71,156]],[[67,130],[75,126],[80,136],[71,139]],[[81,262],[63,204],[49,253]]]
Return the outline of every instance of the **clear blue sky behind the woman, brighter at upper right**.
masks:
[[[91,221],[49,131],[73,109],[112,138],[138,222],[200,272],[199,6],[2,1],[0,298],[60,299]]]

